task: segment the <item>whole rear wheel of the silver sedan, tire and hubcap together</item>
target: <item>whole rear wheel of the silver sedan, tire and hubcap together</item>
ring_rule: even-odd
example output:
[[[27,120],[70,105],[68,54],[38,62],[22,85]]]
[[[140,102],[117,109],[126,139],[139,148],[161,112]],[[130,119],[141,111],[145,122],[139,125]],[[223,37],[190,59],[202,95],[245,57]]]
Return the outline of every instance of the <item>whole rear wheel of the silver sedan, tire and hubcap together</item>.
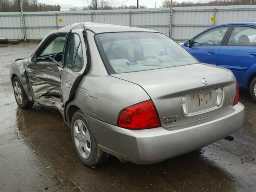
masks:
[[[72,117],[71,135],[76,154],[86,166],[94,167],[108,159],[109,154],[98,147],[92,127],[81,110]]]

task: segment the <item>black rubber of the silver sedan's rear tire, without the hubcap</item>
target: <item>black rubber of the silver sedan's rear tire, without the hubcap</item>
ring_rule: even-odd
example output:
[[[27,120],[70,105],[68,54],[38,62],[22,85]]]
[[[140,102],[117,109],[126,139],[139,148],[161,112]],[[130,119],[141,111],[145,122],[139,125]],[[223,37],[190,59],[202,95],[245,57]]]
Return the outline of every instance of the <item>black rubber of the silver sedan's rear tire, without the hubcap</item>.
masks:
[[[74,138],[74,129],[75,129],[74,124],[77,120],[82,120],[82,122],[84,122],[84,124],[86,126],[86,131],[89,132],[91,153],[90,153],[90,156],[87,159],[84,158],[80,154],[80,152],[78,151],[78,148],[76,147],[76,142],[75,142],[75,138]],[[104,163],[108,159],[109,154],[106,153],[106,152],[103,152],[98,147],[97,141],[96,141],[96,139],[94,137],[94,133],[92,131],[92,127],[90,126],[90,123],[88,122],[88,119],[86,118],[85,114],[81,110],[78,110],[77,112],[75,112],[75,114],[72,118],[71,135],[72,135],[72,142],[73,142],[74,148],[76,150],[76,154],[78,155],[79,159],[86,166],[91,166],[91,167],[92,166],[97,166],[97,165],[100,165],[100,164]]]

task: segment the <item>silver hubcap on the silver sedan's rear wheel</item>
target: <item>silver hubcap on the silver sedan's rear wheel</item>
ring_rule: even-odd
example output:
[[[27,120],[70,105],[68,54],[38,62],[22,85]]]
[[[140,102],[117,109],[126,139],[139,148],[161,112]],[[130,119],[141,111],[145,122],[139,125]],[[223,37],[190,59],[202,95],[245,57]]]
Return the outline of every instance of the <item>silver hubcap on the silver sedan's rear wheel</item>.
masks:
[[[91,139],[86,125],[80,119],[76,120],[73,128],[76,148],[84,159],[88,159],[91,154]]]

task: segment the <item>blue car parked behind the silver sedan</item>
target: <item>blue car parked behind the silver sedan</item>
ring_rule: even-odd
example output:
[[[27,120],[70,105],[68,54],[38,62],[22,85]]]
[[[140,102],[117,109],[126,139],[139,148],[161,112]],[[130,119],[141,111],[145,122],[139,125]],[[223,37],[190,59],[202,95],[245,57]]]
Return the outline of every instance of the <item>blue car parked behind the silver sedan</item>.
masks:
[[[232,70],[256,102],[256,22],[216,25],[181,46],[201,62]]]

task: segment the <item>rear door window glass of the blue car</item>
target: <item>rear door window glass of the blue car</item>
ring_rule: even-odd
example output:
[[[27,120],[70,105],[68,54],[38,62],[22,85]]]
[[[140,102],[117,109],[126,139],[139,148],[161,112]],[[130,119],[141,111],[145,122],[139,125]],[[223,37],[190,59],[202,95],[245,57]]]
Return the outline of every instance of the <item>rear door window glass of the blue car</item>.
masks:
[[[256,46],[256,28],[235,26],[228,39],[229,46]]]

